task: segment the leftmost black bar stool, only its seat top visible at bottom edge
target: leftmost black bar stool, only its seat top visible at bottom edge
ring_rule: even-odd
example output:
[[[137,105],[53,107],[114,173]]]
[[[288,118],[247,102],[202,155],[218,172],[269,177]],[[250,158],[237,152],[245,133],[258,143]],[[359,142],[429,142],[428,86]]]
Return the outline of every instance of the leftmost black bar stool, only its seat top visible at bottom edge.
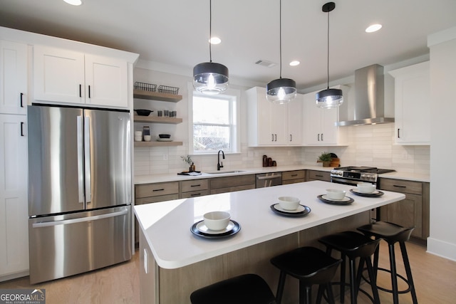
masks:
[[[195,290],[192,304],[275,304],[269,285],[256,274],[244,274]]]

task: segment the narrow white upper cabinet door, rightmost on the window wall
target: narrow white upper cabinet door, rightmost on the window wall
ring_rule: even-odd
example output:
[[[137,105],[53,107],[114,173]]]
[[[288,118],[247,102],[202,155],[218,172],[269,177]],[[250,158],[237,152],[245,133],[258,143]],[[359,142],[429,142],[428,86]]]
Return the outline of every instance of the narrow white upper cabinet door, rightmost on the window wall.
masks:
[[[302,145],[304,97],[298,94],[287,104],[288,108],[288,144]]]

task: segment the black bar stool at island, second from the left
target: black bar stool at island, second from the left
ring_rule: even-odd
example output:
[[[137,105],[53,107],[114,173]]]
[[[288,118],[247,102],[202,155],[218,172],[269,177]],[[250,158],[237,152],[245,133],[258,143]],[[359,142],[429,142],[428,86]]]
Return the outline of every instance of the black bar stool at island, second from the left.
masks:
[[[334,303],[331,279],[342,260],[331,258],[324,251],[314,247],[301,247],[271,258],[271,263],[280,269],[276,302],[281,303],[284,295],[286,275],[299,280],[299,304],[311,303],[312,285],[320,285],[318,293],[326,288],[328,302]],[[319,303],[319,302],[318,302]]]

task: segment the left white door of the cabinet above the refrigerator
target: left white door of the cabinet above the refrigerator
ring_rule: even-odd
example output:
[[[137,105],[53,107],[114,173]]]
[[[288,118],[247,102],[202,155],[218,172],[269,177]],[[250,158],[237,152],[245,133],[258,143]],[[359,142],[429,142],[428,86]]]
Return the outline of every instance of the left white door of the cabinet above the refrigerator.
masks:
[[[35,100],[84,103],[84,54],[35,46],[33,48]]]

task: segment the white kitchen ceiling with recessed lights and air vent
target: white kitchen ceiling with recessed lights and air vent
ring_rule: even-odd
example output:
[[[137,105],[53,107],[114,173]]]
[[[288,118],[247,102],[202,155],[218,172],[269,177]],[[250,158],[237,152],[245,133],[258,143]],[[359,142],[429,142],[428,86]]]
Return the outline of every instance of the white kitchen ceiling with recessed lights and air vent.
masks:
[[[330,13],[330,79],[366,65],[390,65],[429,53],[427,35],[456,26],[455,0],[339,0]],[[282,0],[283,78],[299,90],[326,83],[327,13],[322,0]],[[376,33],[365,33],[382,23]],[[209,61],[209,0],[1,0],[0,26],[140,54],[140,59],[192,75]],[[237,83],[279,78],[279,0],[213,0],[212,61]],[[277,63],[272,68],[255,62]],[[300,65],[289,66],[291,60]]]

